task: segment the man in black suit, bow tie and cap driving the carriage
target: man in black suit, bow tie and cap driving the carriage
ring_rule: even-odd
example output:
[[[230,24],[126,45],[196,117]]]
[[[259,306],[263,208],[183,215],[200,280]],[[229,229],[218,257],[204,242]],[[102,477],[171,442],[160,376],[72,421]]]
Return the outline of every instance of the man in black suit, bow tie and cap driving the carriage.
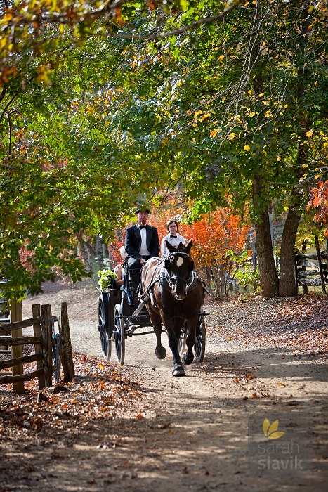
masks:
[[[124,247],[128,257],[132,287],[137,288],[140,282],[140,268],[147,259],[159,256],[159,238],[157,228],[147,224],[150,209],[139,207],[136,210],[137,224],[126,229]]]

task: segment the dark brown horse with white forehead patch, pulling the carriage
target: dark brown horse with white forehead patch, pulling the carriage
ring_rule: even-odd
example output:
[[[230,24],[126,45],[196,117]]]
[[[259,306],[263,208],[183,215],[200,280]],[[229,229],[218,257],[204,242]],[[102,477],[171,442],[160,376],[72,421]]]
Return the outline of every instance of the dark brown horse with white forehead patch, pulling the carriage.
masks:
[[[159,359],[166,357],[161,341],[163,324],[173,355],[172,375],[184,376],[184,364],[191,364],[194,358],[192,347],[205,290],[190,256],[192,240],[187,245],[180,242],[178,249],[167,241],[166,245],[169,256],[146,261],[140,273],[140,284],[156,335],[155,355]],[[188,323],[188,337],[186,350],[180,356],[179,339],[184,323]]]

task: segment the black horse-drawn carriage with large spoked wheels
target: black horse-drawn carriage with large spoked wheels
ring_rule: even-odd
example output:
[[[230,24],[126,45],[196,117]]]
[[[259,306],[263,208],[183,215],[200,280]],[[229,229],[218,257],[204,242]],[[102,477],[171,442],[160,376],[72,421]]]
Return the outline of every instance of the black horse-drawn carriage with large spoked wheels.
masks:
[[[157,259],[157,261],[160,263],[164,260]],[[112,288],[113,285],[103,290],[98,287],[98,290],[100,290],[98,302],[98,330],[103,357],[106,361],[110,361],[112,349],[114,349],[117,361],[120,365],[124,364],[125,346],[128,337],[147,335],[153,333],[155,330],[155,327],[148,331],[140,330],[140,328],[153,327],[153,324],[150,320],[150,313],[145,306],[145,297],[140,296],[140,294],[138,295],[138,289],[133,288],[132,279],[136,274],[139,275],[139,271],[136,272],[129,269],[126,260],[124,260],[122,268],[124,285],[120,289]],[[202,362],[204,359],[206,338],[204,316],[205,313],[203,309],[199,309],[195,343],[192,347],[193,356],[196,362]],[[166,331],[164,325],[162,325],[161,331]],[[188,339],[188,321],[183,322],[179,332],[178,350],[180,354],[183,354],[186,348],[186,340]]]

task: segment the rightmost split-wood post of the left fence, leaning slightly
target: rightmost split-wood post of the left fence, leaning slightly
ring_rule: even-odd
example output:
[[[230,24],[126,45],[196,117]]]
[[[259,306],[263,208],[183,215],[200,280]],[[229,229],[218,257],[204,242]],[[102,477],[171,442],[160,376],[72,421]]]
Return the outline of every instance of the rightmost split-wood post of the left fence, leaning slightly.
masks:
[[[60,303],[58,329],[60,336],[60,360],[63,366],[64,381],[69,382],[74,377],[74,363],[66,302]]]

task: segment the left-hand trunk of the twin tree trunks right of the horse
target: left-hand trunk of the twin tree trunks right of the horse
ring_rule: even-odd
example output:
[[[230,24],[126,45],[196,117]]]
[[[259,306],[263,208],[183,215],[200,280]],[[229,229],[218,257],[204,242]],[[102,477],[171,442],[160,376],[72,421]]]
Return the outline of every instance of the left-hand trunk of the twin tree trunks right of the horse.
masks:
[[[253,180],[253,203],[258,208],[261,199],[261,179],[256,176]],[[263,207],[261,207],[263,209]],[[258,214],[255,222],[256,253],[258,271],[260,273],[261,291],[264,297],[274,297],[278,294],[279,280],[273,257],[273,243],[271,240],[268,207]]]

